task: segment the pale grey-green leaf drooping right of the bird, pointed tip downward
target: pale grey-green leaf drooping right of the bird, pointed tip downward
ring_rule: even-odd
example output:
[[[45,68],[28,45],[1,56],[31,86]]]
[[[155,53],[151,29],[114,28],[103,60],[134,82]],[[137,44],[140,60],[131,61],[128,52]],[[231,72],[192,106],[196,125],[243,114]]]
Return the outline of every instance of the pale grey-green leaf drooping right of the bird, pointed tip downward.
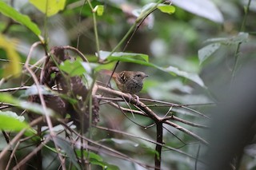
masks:
[[[202,49],[198,50],[198,58],[200,61],[200,65],[203,61],[205,61],[210,55],[212,55],[219,47],[221,46],[220,43],[214,43],[210,45],[204,46]]]

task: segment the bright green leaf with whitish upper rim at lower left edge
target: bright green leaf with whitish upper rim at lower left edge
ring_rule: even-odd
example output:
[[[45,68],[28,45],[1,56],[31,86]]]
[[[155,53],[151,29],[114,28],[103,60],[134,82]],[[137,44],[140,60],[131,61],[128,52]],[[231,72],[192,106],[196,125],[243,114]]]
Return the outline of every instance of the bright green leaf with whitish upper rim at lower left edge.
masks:
[[[29,128],[26,122],[24,122],[23,116],[18,116],[14,112],[0,111],[0,129],[2,130],[12,130],[12,131],[21,131],[23,128]]]

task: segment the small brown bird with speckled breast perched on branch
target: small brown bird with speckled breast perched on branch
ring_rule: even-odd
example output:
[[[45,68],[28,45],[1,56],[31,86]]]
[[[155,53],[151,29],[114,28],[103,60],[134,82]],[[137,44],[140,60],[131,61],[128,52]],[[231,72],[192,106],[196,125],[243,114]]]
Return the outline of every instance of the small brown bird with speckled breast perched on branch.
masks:
[[[102,73],[105,73],[111,76],[112,71],[102,70]],[[143,80],[148,77],[146,73],[140,71],[122,71],[120,73],[113,73],[115,83],[123,93],[136,94],[139,93],[143,88]]]

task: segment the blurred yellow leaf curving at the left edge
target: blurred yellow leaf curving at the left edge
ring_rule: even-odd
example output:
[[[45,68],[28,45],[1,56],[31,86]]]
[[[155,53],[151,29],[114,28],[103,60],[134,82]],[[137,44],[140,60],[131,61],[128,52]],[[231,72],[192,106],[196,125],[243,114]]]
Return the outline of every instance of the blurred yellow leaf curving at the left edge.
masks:
[[[14,75],[18,77],[22,72],[22,65],[20,64],[20,57],[16,52],[15,43],[12,40],[8,40],[0,34],[0,48],[6,51],[6,56],[9,58],[9,63],[5,65],[3,77]]]

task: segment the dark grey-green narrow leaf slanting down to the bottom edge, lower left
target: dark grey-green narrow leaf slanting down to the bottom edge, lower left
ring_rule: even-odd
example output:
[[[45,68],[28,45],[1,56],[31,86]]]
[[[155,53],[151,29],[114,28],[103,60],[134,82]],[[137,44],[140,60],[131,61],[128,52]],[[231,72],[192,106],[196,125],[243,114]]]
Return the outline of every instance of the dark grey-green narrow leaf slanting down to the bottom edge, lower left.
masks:
[[[57,145],[63,149],[64,152],[66,152],[66,156],[71,160],[72,164],[74,164],[74,166],[77,169],[81,169],[78,162],[77,162],[77,157],[74,153],[74,149],[71,147],[70,143],[68,143],[66,140],[58,137],[58,136],[54,136],[54,141],[57,143]]]

